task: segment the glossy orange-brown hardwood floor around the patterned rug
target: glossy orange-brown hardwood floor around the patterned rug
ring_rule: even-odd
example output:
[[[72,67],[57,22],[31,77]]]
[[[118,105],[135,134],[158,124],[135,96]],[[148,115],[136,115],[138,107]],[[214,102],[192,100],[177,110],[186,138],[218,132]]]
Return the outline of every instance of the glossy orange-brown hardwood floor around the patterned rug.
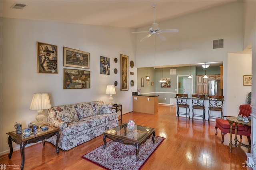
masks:
[[[207,113],[207,111],[206,111]],[[215,122],[176,119],[176,107],[159,105],[154,115],[127,113],[123,122],[135,120],[138,125],[156,128],[156,135],[166,138],[150,156],[142,170],[242,170],[246,154],[245,147],[233,147],[229,152],[229,134],[221,143],[221,132],[215,135]],[[8,136],[6,135],[6,140]],[[234,135],[233,135],[234,138]],[[238,137],[239,139],[239,137]],[[1,139],[3,140],[3,139]],[[234,139],[233,139],[234,142]],[[246,136],[242,142],[248,144]],[[102,135],[68,151],[60,150],[57,155],[54,145],[42,142],[25,149],[24,170],[101,170],[102,168],[83,158],[84,154],[103,144]],[[20,165],[20,152],[16,151],[9,159],[1,156],[1,164]],[[13,169],[13,168],[7,168]]]

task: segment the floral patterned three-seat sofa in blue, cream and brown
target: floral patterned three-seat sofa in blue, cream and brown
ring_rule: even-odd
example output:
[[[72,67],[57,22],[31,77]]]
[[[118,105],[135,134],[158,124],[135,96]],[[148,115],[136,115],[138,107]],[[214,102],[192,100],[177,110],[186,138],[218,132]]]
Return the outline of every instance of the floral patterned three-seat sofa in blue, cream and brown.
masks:
[[[118,113],[104,101],[55,106],[48,109],[47,122],[60,128],[58,147],[70,150],[119,125]],[[56,136],[46,141],[56,145]]]

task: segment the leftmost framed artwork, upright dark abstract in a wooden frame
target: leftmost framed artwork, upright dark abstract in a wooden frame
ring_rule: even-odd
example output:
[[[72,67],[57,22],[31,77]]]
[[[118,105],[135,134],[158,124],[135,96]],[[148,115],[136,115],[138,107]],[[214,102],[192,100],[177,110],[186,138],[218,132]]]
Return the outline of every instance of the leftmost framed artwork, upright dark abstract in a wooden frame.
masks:
[[[58,49],[57,45],[36,42],[37,73],[58,74]]]

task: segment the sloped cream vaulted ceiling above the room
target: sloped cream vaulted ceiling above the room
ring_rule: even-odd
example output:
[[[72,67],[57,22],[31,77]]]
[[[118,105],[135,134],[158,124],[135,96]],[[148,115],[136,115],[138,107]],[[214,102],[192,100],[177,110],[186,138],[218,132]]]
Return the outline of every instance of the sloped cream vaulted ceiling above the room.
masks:
[[[1,0],[1,17],[139,28],[232,2],[231,0]],[[26,4],[23,9],[11,8]]]

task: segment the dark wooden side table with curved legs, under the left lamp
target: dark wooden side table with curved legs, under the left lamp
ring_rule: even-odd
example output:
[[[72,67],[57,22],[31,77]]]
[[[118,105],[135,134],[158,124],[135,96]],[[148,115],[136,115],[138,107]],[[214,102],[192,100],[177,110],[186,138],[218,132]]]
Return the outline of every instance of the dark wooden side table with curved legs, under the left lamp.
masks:
[[[20,144],[20,154],[21,154],[21,166],[20,169],[23,170],[24,164],[25,164],[25,146],[26,144],[29,143],[36,143],[40,140],[43,141],[43,146],[45,144],[45,139],[48,139],[54,135],[57,136],[56,139],[56,152],[57,154],[59,153],[59,148],[58,148],[58,143],[60,140],[60,134],[59,134],[59,128],[56,127],[50,127],[48,126],[48,130],[42,131],[38,130],[37,134],[31,134],[30,136],[24,136],[24,134],[16,134],[15,131],[8,132],[7,134],[9,135],[8,137],[8,144],[10,147],[10,154],[8,154],[9,159],[12,158],[12,141],[15,142],[16,144]],[[23,131],[23,129],[22,129]]]

